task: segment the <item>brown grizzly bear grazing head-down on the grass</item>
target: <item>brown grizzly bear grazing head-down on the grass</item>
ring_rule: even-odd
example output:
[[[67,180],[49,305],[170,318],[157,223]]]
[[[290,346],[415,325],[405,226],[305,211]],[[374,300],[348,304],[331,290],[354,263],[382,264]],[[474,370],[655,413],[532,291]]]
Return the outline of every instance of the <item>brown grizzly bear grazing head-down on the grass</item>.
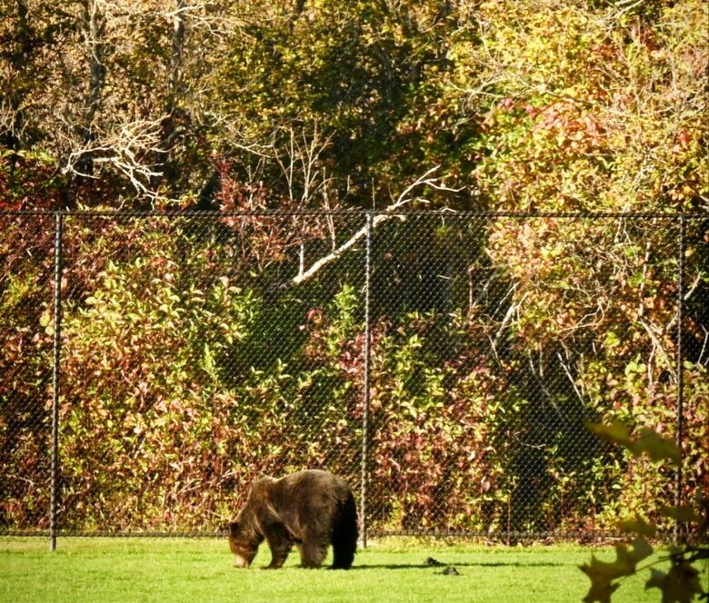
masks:
[[[251,565],[264,539],[272,557],[267,568],[280,568],[293,545],[302,567],[319,568],[332,544],[332,568],[349,569],[357,535],[352,490],[332,473],[303,470],[255,482],[244,509],[229,524],[229,548],[237,568]]]

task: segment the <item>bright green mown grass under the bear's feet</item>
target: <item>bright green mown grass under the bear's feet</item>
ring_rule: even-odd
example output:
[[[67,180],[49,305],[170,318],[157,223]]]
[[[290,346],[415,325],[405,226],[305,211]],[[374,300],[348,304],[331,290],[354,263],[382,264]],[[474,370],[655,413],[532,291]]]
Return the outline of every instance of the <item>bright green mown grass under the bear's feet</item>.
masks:
[[[59,539],[55,553],[45,539],[0,539],[0,601],[444,601],[568,603],[589,585],[577,568],[594,552],[578,546],[484,547],[413,540],[371,541],[350,571],[297,568],[294,551],[285,568],[262,571],[265,546],[255,568],[236,569],[224,539]],[[434,557],[454,566],[444,576],[425,565]],[[628,578],[615,603],[660,600],[644,590],[648,572]],[[706,579],[704,579],[706,588]]]

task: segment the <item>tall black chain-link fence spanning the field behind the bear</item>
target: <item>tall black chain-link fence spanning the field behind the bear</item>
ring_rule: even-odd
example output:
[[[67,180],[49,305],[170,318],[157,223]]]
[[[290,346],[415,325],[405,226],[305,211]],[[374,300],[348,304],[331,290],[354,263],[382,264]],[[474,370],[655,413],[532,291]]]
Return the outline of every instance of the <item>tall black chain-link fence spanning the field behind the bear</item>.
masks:
[[[332,470],[364,535],[593,538],[709,486],[706,216],[0,215],[0,533],[213,534]],[[597,440],[624,420],[680,470]]]

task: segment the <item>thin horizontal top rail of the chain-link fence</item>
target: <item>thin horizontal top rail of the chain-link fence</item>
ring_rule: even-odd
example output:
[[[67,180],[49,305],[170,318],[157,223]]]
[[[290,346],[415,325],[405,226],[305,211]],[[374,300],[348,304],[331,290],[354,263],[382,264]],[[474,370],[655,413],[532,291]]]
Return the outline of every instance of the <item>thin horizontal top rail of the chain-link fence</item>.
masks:
[[[695,220],[709,219],[709,212],[477,212],[440,210],[258,210],[243,212],[190,211],[190,210],[0,210],[0,216],[77,216],[103,218],[233,218],[233,217],[287,217],[330,215],[392,215],[392,216],[438,216],[477,219],[496,218],[563,218],[563,219],[634,219],[634,220]]]

